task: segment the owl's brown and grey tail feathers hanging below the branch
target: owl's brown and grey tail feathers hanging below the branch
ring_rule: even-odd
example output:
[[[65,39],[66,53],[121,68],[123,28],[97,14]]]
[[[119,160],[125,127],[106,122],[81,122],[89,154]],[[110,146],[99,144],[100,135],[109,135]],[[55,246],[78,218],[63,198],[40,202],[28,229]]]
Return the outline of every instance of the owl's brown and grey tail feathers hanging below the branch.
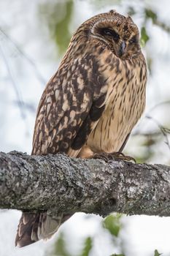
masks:
[[[62,216],[54,219],[47,213],[23,213],[18,225],[18,232],[15,238],[15,246],[23,247],[33,244],[41,239],[53,236],[58,227],[71,216]]]

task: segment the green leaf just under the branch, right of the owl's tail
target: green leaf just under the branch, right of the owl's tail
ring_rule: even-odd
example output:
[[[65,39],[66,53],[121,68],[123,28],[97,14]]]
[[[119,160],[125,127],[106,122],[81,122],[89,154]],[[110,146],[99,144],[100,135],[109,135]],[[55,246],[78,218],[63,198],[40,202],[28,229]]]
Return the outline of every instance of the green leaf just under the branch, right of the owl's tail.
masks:
[[[103,227],[109,230],[109,233],[111,233],[112,236],[117,237],[119,235],[121,229],[121,217],[121,214],[111,214],[106,219],[104,219]]]

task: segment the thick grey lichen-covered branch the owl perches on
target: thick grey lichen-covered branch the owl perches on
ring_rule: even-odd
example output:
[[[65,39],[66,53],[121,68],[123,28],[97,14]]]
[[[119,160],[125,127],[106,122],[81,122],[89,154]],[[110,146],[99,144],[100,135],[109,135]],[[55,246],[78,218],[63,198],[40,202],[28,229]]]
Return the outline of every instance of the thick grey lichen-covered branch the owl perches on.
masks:
[[[0,208],[170,216],[170,167],[0,153]]]

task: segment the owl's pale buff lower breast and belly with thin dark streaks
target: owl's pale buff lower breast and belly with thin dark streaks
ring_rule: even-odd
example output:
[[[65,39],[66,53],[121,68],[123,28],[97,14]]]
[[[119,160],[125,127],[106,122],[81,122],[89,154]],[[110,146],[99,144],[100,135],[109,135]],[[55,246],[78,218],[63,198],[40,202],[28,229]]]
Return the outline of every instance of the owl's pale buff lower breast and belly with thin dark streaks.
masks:
[[[139,120],[145,105],[145,81],[138,72],[109,89],[107,105],[87,145],[94,152],[120,151],[125,139]]]

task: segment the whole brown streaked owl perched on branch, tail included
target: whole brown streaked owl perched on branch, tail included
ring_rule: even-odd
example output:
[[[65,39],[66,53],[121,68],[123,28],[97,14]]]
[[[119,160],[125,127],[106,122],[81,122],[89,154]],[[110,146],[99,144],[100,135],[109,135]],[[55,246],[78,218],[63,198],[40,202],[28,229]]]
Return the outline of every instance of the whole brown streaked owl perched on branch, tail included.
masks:
[[[32,154],[89,158],[123,151],[144,110],[146,82],[139,30],[131,17],[111,10],[86,20],[42,94]],[[16,245],[50,238],[70,216],[24,212]]]

